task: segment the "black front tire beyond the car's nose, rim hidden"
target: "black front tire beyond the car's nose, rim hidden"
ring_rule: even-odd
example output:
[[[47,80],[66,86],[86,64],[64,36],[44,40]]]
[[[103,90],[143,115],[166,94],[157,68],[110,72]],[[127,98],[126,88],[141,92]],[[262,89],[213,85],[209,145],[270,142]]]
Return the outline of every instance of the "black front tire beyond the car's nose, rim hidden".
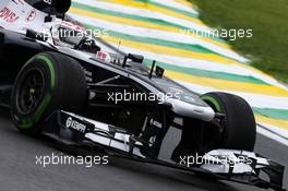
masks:
[[[250,105],[241,97],[227,93],[207,93],[201,96],[216,112],[225,114],[220,147],[253,151],[256,123]]]

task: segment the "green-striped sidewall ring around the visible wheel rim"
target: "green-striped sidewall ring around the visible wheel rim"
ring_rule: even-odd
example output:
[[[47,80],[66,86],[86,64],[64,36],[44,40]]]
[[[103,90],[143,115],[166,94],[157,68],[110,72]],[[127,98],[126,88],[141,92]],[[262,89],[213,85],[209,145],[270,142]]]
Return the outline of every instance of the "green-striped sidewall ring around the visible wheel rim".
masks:
[[[35,110],[28,114],[22,114],[19,108],[19,92],[25,80],[26,75],[33,71],[38,70],[44,79],[44,91],[40,97],[40,102]],[[11,114],[12,119],[16,127],[22,131],[34,131],[37,124],[41,121],[44,116],[47,116],[49,106],[52,103],[52,95],[55,86],[57,85],[56,70],[52,64],[51,58],[46,53],[40,53],[33,57],[20,71],[16,76],[13,89],[12,89],[12,102],[11,102]]]

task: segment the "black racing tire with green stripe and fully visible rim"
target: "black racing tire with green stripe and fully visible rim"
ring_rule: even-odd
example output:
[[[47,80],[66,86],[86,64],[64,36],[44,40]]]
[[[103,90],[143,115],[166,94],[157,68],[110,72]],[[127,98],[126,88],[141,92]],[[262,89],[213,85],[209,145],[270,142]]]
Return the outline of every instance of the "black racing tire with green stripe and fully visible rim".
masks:
[[[80,112],[87,100],[87,84],[81,64],[62,53],[41,52],[19,72],[11,96],[11,116],[16,128],[28,134],[55,110]]]

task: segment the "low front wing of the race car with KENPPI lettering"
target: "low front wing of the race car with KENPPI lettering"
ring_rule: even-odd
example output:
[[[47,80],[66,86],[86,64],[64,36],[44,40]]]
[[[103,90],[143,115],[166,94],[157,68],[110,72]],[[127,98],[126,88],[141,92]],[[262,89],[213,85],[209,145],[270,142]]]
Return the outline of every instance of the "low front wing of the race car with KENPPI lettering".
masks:
[[[283,189],[285,167],[257,154],[245,151],[215,150],[203,156],[202,162],[179,164],[147,155],[149,144],[129,134],[124,129],[91,120],[67,111],[55,111],[43,124],[44,134],[64,144],[87,145],[103,148],[113,156],[142,163],[161,165],[188,172],[204,174],[218,180],[228,180],[264,189]],[[240,157],[251,163],[239,159]],[[266,176],[263,176],[265,174]],[[264,178],[266,177],[266,178]]]

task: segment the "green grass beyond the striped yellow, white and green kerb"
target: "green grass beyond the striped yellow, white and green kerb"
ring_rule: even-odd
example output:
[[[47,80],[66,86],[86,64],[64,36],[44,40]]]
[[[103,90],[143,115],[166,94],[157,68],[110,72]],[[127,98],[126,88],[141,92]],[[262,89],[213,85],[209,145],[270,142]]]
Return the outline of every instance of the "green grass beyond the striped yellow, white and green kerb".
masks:
[[[253,67],[288,82],[288,0],[191,1],[212,27],[253,29],[252,38],[228,43]]]

